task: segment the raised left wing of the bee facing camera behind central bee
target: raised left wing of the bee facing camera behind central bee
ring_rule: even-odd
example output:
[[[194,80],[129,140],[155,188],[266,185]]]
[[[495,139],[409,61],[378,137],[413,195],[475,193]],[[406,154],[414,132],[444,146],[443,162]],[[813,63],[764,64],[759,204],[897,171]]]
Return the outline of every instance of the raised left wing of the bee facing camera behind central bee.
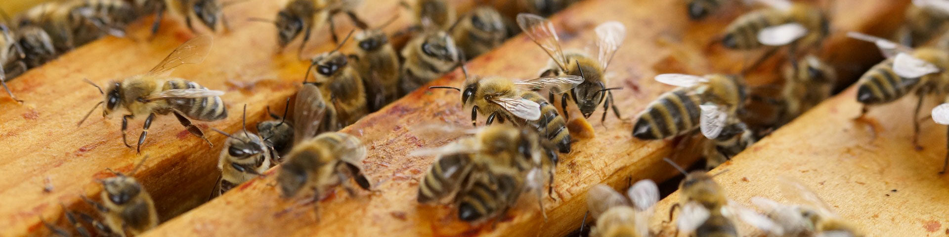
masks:
[[[560,49],[560,39],[553,23],[538,15],[520,13],[517,14],[517,26],[521,27],[524,34],[527,34],[534,44],[543,48],[561,69],[567,68],[567,58],[564,57],[564,51]]]

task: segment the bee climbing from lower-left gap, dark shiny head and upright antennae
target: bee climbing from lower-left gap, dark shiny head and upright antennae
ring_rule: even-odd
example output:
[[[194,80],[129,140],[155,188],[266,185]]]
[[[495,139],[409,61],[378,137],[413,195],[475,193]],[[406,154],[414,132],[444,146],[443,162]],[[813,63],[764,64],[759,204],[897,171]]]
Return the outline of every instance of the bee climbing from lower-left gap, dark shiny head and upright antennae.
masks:
[[[221,176],[217,178],[217,185],[212,191],[213,196],[220,196],[233,187],[243,184],[256,176],[262,175],[273,165],[274,150],[260,136],[247,131],[247,105],[244,105],[244,114],[241,117],[242,130],[228,134],[213,129],[214,132],[227,136],[224,148],[217,158],[217,169]]]

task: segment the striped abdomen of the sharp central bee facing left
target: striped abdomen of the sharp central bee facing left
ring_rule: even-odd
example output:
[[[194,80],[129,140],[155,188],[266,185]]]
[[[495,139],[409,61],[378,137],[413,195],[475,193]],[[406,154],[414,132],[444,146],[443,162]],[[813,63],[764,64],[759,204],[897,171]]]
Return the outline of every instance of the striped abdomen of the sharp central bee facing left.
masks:
[[[570,132],[564,117],[557,113],[557,108],[533,91],[523,90],[520,96],[540,104],[540,119],[530,121],[530,125],[556,144],[561,153],[569,153]]]

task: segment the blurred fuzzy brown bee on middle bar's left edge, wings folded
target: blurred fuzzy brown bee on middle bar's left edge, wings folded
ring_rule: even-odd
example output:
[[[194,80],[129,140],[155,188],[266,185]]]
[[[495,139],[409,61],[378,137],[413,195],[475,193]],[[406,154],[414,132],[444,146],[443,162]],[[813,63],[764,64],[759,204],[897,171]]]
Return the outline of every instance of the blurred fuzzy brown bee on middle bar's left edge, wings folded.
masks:
[[[282,196],[290,198],[304,188],[313,188],[314,197],[325,195],[327,189],[343,185],[353,195],[349,178],[364,190],[369,190],[361,164],[365,146],[358,137],[329,132],[296,144],[287,155],[277,174]]]

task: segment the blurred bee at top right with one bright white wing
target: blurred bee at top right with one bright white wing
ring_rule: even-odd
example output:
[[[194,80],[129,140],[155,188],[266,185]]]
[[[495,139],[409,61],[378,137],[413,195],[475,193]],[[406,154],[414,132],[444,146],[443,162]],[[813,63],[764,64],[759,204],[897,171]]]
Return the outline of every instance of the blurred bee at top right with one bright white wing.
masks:
[[[723,46],[742,50],[762,46],[817,46],[830,33],[827,14],[809,3],[757,2],[770,8],[754,10],[735,19],[725,28]]]

